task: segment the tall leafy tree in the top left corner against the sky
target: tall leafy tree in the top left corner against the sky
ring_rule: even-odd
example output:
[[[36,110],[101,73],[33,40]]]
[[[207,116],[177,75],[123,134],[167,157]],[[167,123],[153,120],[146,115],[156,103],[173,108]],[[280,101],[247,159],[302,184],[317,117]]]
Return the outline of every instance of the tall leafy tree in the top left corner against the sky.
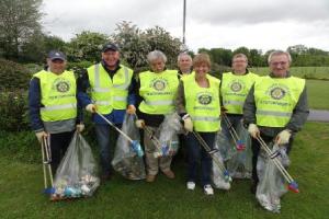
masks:
[[[42,0],[1,0],[0,50],[4,58],[18,59],[21,46],[41,31]]]

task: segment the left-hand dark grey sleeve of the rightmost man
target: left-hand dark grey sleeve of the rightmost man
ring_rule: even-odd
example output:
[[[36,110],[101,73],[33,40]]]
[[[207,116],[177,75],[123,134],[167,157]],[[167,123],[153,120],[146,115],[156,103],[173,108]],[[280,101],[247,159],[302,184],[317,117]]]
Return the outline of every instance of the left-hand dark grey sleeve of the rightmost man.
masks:
[[[250,88],[243,105],[243,124],[248,126],[249,124],[256,124],[256,103],[253,95],[254,87]]]

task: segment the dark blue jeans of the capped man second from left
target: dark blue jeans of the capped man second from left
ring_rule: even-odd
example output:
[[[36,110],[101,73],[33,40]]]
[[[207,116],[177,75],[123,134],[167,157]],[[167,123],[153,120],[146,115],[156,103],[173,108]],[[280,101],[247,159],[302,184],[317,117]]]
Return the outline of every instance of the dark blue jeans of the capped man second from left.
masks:
[[[122,125],[115,125],[121,128]],[[111,161],[112,153],[114,151],[116,140],[118,137],[118,132],[110,125],[104,124],[95,124],[95,134],[98,138],[98,143],[100,148],[100,157],[101,157],[101,174],[102,175],[111,175]]]

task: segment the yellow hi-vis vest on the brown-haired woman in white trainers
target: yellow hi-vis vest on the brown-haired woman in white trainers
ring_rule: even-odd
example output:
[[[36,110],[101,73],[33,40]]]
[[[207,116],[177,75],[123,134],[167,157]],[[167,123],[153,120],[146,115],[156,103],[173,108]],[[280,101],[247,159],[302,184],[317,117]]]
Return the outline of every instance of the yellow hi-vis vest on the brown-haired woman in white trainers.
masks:
[[[209,88],[200,88],[195,76],[182,78],[185,94],[185,108],[196,131],[217,131],[220,129],[219,80],[206,76]]]

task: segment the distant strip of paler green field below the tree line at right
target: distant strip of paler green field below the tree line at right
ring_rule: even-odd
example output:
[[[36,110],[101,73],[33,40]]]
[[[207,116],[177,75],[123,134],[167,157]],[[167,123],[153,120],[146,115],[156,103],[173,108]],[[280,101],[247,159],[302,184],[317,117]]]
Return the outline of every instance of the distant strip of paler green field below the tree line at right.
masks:
[[[269,74],[268,67],[250,68],[250,71],[266,76]],[[329,67],[291,67],[293,76],[306,79],[329,79]]]

